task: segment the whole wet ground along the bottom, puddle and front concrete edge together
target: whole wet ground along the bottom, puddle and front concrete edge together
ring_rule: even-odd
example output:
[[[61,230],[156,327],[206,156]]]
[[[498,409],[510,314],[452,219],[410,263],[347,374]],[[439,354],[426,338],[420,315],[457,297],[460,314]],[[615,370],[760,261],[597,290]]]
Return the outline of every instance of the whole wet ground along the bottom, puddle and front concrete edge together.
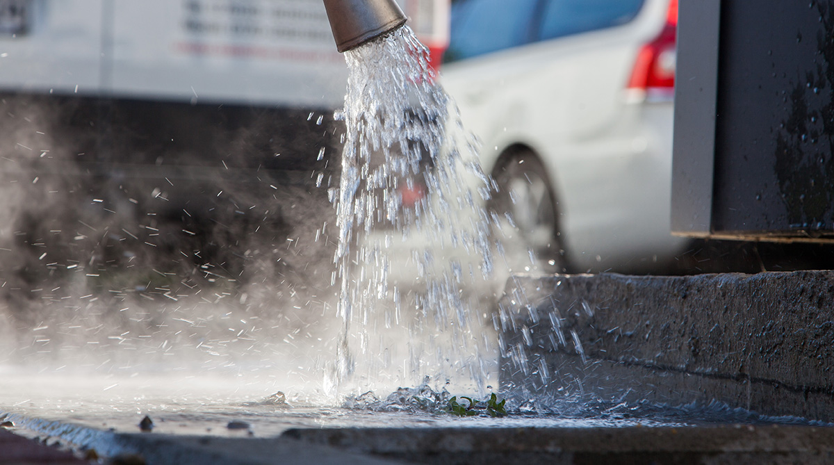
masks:
[[[719,405],[515,403],[505,418],[458,418],[398,403],[324,407],[291,390],[284,404],[271,396],[274,388],[264,379],[216,374],[6,371],[0,417],[15,433],[82,456],[94,450],[115,463],[834,460],[834,428]],[[146,416],[153,424],[143,433]]]

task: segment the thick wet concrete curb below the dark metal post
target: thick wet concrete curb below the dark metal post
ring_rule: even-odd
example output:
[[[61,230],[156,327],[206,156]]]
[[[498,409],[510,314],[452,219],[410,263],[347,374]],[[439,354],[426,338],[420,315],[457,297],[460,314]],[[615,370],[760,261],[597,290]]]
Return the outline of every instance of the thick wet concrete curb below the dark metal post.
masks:
[[[502,385],[834,421],[834,273],[510,278]]]

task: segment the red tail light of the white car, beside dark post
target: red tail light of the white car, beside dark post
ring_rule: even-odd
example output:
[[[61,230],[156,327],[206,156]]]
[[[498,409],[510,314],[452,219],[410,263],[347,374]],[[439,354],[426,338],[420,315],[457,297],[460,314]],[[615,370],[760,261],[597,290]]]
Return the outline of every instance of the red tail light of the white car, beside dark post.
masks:
[[[671,92],[675,87],[677,10],[678,0],[671,0],[661,33],[641,47],[629,79],[630,90]]]

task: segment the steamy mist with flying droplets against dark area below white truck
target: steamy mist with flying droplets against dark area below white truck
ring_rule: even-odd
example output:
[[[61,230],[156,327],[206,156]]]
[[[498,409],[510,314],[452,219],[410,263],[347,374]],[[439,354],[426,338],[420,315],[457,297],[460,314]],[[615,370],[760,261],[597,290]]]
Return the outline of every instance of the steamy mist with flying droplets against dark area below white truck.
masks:
[[[329,115],[16,95],[0,109],[0,363],[319,382],[339,328]]]

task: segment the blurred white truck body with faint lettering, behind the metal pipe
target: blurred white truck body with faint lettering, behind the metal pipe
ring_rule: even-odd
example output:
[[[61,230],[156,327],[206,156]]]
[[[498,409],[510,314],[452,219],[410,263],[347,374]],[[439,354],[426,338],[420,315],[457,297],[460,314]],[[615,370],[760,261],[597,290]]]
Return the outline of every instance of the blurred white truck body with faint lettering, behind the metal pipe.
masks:
[[[448,0],[400,0],[428,47]],[[338,107],[344,59],[320,0],[0,0],[0,88]]]

